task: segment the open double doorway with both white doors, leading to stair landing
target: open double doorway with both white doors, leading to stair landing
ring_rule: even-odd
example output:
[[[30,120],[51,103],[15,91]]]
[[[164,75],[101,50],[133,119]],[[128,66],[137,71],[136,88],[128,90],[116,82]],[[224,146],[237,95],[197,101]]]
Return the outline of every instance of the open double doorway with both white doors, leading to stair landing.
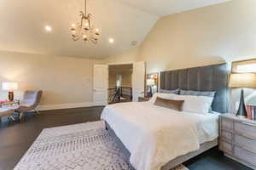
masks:
[[[144,96],[145,68],[144,61],[125,64],[94,65],[94,105],[108,105],[112,101],[113,103],[127,102],[131,101],[131,99],[137,102],[138,97]],[[124,72],[128,73],[128,78],[123,74]],[[117,93],[118,90],[119,93]],[[117,97],[113,99],[114,93]]]

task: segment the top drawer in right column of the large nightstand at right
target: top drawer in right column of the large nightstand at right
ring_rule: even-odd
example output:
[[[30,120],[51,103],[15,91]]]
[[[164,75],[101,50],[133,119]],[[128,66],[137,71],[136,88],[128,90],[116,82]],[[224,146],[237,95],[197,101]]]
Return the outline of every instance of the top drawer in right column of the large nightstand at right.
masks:
[[[256,123],[235,122],[234,131],[241,136],[256,140]]]

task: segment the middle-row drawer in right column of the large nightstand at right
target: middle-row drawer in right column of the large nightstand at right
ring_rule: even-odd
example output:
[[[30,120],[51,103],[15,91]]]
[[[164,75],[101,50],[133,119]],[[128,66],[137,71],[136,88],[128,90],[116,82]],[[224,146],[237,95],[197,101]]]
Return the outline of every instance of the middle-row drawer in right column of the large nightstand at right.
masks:
[[[256,140],[248,139],[247,137],[243,137],[235,134],[234,136],[234,144],[240,146],[245,150],[251,150],[256,154]],[[256,160],[255,160],[256,161]]]

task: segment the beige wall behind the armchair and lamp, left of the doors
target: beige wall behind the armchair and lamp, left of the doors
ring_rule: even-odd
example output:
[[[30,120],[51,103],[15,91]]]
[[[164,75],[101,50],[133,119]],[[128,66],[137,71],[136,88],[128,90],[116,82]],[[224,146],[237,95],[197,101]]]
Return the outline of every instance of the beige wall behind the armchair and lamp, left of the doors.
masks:
[[[0,82],[19,82],[19,90],[42,89],[41,105],[92,102],[93,65],[100,61],[0,51]],[[20,91],[15,92],[20,98]],[[0,98],[7,92],[0,90]]]

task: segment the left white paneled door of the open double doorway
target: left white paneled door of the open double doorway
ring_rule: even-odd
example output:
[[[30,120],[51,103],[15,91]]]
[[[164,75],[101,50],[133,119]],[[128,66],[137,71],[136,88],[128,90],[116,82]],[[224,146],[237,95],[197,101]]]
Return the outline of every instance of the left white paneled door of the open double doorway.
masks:
[[[94,65],[93,102],[94,105],[108,105],[108,65]]]

